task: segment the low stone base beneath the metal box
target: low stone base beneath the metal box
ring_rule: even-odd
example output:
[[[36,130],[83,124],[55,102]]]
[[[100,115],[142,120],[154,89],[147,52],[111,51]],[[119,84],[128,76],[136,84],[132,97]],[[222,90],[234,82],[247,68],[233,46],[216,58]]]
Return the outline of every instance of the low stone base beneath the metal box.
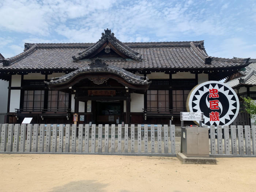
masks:
[[[183,153],[177,153],[177,158],[182,164],[217,164],[216,158],[212,157],[186,157]]]

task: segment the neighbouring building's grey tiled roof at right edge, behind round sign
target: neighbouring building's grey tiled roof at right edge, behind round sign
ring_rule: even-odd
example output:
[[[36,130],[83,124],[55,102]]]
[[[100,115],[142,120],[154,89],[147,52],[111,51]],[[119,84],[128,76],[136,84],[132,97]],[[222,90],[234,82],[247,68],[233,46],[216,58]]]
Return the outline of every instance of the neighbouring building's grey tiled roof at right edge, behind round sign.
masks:
[[[230,87],[239,85],[256,85],[256,59],[252,59],[252,63],[245,67],[245,71],[240,72],[243,76],[226,82]]]

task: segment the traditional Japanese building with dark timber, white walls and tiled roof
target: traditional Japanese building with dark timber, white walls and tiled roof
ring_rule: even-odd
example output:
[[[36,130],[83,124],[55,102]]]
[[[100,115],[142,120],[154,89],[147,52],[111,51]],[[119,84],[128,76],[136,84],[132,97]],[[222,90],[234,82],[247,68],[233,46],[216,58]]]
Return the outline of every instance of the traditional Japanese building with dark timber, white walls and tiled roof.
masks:
[[[25,43],[0,60],[6,123],[180,124],[195,85],[250,63],[208,56],[204,41],[123,43],[108,29],[96,43]]]

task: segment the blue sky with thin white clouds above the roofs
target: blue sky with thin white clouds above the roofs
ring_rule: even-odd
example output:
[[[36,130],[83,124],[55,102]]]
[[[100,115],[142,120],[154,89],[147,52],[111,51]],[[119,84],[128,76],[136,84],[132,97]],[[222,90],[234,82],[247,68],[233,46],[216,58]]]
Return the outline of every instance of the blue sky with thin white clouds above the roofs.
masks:
[[[0,53],[24,43],[205,41],[210,56],[256,58],[256,0],[1,0]]]

